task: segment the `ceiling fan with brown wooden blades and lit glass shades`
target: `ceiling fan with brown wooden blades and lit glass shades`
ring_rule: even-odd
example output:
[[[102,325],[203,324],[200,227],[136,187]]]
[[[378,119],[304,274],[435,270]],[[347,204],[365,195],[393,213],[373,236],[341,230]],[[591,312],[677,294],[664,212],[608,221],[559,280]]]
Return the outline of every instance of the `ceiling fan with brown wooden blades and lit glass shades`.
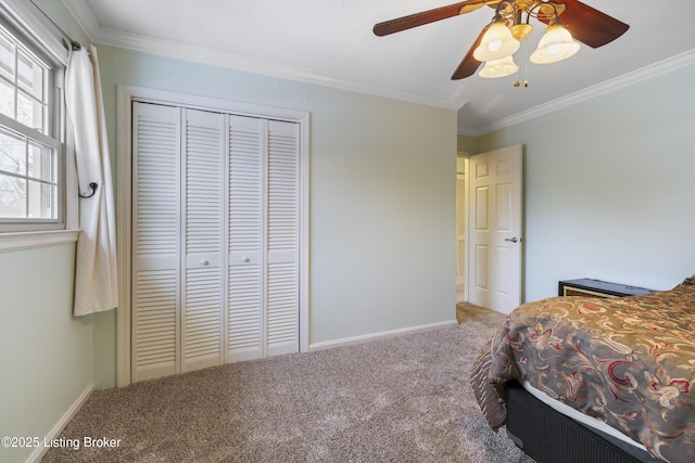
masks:
[[[480,73],[481,77],[514,74],[518,66],[513,62],[511,54],[518,50],[519,40],[533,29],[529,24],[531,18],[548,25],[539,49],[531,55],[533,63],[554,63],[573,55],[579,51],[579,44],[573,39],[598,48],[617,39],[630,28],[615,17],[577,0],[467,0],[379,23],[374,26],[374,33],[382,37],[467,14],[484,5],[494,8],[495,15],[480,31],[454,70],[452,80],[471,76],[482,62],[485,62],[485,67]],[[568,33],[571,33],[571,36]]]

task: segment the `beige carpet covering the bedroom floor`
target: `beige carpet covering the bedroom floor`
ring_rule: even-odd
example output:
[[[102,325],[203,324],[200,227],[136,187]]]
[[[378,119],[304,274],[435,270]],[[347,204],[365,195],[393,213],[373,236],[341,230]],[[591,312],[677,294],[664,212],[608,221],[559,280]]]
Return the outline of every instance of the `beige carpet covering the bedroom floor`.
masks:
[[[485,424],[468,369],[503,316],[99,390],[43,462],[519,462]],[[66,440],[67,441],[67,440]]]

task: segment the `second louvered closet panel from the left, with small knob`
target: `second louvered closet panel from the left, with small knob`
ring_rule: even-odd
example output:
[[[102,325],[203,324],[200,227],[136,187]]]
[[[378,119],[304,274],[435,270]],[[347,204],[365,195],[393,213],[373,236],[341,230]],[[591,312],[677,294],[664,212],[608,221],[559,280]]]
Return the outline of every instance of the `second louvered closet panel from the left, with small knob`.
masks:
[[[184,110],[182,371],[223,362],[224,116]]]

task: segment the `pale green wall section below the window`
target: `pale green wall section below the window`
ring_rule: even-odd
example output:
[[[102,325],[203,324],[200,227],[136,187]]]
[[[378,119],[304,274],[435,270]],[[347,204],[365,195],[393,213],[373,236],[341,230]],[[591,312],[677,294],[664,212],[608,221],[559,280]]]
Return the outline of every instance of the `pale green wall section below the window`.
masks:
[[[0,436],[42,442],[91,385],[91,319],[72,317],[74,273],[74,244],[0,252]],[[33,450],[0,448],[0,461]]]

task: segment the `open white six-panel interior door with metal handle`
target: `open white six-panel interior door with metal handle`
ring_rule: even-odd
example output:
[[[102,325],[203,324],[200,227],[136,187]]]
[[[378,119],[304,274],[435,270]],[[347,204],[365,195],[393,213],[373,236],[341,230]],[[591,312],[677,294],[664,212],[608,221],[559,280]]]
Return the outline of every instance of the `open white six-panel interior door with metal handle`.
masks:
[[[521,303],[522,146],[470,158],[469,301],[509,313]]]

